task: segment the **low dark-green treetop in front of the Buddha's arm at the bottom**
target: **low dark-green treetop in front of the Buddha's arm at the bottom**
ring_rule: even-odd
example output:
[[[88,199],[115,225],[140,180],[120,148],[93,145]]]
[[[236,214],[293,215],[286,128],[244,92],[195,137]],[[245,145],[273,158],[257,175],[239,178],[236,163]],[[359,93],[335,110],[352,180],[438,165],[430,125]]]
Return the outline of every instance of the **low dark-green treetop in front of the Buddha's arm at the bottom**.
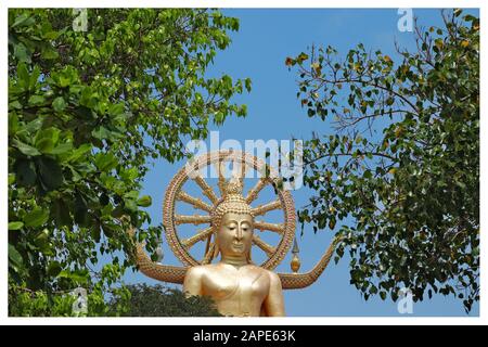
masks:
[[[127,286],[130,292],[128,308],[123,313],[126,317],[219,317],[210,297],[191,296],[187,298],[183,292],[167,288],[159,284],[136,284]],[[111,301],[113,311],[118,311],[120,299]]]

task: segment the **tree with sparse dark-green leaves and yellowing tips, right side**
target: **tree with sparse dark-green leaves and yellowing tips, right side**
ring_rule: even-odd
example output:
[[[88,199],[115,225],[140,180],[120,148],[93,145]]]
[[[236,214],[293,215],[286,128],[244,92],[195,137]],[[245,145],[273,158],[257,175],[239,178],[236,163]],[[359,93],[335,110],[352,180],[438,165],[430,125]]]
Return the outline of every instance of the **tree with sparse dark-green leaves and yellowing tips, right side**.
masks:
[[[349,250],[365,299],[396,300],[406,286],[415,300],[455,295],[470,311],[479,299],[479,20],[442,18],[416,27],[418,51],[397,47],[397,63],[362,44],[344,61],[332,47],[286,59],[308,116],[334,127],[305,144],[317,194],[298,217],[338,229],[336,261]]]

